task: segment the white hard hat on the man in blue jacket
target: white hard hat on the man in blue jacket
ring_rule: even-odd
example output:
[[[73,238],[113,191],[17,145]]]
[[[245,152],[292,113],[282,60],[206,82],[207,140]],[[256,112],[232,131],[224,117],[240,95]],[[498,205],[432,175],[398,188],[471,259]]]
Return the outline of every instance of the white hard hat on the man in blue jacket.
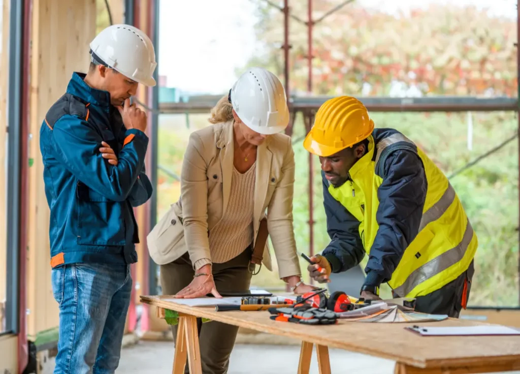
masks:
[[[90,54],[127,78],[145,86],[155,86],[153,71],[157,66],[150,38],[128,24],[114,24],[90,42]]]

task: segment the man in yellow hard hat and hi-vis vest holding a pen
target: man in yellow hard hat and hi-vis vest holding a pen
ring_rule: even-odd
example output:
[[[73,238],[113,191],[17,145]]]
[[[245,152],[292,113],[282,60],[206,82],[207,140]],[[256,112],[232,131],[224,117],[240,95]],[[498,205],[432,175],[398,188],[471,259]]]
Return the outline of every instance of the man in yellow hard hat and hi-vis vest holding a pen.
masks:
[[[321,163],[331,242],[309,265],[311,277],[359,265],[360,297],[379,299],[387,282],[394,297],[416,298],[419,312],[458,317],[466,307],[477,237],[446,176],[410,139],[376,128],[350,96],[327,100],[304,141]]]

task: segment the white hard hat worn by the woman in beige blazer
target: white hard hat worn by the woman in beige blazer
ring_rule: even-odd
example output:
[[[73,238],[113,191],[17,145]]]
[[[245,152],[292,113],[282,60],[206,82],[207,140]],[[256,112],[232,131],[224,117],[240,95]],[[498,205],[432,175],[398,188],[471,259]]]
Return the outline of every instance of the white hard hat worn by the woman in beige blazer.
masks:
[[[279,133],[289,124],[283,85],[270,71],[248,69],[233,85],[229,96],[240,120],[258,134]]]

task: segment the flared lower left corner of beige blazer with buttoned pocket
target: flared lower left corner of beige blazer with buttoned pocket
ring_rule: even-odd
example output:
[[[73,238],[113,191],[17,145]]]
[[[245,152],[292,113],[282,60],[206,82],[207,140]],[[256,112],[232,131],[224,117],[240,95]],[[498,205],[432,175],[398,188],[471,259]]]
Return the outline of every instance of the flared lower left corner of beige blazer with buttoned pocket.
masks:
[[[147,236],[148,251],[152,260],[159,264],[172,262],[176,250],[184,243],[184,227],[174,210],[174,204],[163,215]]]

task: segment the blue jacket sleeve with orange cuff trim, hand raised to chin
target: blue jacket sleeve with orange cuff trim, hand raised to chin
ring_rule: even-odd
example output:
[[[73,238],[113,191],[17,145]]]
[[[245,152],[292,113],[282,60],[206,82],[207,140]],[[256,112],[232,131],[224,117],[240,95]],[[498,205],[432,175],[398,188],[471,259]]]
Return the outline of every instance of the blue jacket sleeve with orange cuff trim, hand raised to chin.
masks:
[[[103,140],[85,120],[63,115],[50,136],[55,157],[81,182],[112,201],[128,198],[145,161],[148,137],[131,129],[128,143],[118,155],[118,165],[102,158],[99,148]]]

